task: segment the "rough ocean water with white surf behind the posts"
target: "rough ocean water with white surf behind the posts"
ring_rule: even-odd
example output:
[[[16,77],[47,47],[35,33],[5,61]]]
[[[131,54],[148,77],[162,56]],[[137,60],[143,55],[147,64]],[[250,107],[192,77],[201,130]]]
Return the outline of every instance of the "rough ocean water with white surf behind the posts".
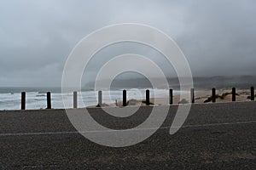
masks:
[[[168,97],[168,89],[152,89],[150,97],[160,98]],[[145,88],[127,89],[128,99],[145,99]],[[54,109],[64,108],[63,99],[67,100],[67,108],[73,108],[73,93],[61,94],[61,88],[0,88],[0,111],[3,110],[20,110],[21,92],[26,92],[26,109],[45,109],[46,108],[46,93],[51,92],[51,105]],[[78,99],[78,107],[97,105],[97,93],[93,90],[84,90],[81,92],[82,97]],[[110,94],[111,99],[107,98]],[[174,92],[178,94],[178,92]],[[111,104],[122,101],[123,91],[115,89],[111,91],[102,91],[102,103]]]

